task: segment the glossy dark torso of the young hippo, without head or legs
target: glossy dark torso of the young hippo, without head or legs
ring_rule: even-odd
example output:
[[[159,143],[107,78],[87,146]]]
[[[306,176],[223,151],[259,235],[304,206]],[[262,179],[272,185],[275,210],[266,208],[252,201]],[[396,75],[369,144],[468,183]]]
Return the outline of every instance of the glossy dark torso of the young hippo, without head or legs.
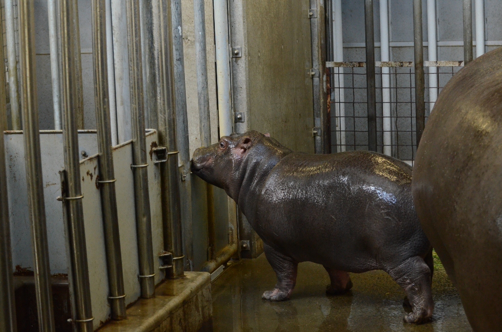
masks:
[[[409,181],[329,163],[276,166],[252,221],[267,244],[296,261],[350,272],[395,266],[430,249]]]

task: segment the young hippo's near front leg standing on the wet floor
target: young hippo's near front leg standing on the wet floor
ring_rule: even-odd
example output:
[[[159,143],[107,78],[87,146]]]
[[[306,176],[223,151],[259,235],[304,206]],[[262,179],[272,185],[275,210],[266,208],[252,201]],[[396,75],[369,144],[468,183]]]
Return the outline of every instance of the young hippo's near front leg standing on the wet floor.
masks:
[[[287,300],[295,288],[298,263],[265,243],[263,247],[267,260],[276,272],[277,284],[273,290],[263,293],[262,298],[269,301]]]

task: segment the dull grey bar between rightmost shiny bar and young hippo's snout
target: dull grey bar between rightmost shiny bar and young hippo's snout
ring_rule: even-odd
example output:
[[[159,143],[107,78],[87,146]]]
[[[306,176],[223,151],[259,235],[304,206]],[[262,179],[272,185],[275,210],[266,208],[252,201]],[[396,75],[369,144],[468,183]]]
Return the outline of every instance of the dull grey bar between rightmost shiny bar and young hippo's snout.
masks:
[[[181,209],[181,226],[184,239],[184,253],[186,261],[193,266],[193,230],[192,230],[192,185],[190,174],[190,142],[188,137],[188,114],[185,87],[185,57],[183,53],[183,19],[181,13],[181,0],[171,0],[171,20],[173,31],[173,52],[174,52],[174,79],[175,79],[175,101],[176,101],[176,143],[179,154],[178,172],[183,178],[178,176],[179,201]],[[176,145],[174,145],[175,148]],[[184,179],[184,180],[182,180]],[[182,181],[180,181],[182,180]]]

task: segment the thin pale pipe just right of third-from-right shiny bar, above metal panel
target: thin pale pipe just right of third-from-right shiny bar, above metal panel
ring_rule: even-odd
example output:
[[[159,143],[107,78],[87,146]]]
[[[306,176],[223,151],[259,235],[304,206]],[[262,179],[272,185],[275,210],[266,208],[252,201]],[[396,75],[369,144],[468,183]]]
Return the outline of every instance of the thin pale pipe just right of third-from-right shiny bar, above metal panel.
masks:
[[[106,61],[108,67],[108,96],[110,104],[111,144],[118,144],[117,103],[115,97],[115,66],[113,63],[113,29],[111,24],[111,0],[106,1]]]

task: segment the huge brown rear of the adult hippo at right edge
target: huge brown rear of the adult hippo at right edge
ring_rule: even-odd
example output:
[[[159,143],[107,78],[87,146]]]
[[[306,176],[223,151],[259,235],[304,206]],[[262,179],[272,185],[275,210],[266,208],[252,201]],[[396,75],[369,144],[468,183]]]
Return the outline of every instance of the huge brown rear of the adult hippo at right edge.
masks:
[[[470,324],[502,330],[502,48],[445,86],[414,166],[417,213]]]

